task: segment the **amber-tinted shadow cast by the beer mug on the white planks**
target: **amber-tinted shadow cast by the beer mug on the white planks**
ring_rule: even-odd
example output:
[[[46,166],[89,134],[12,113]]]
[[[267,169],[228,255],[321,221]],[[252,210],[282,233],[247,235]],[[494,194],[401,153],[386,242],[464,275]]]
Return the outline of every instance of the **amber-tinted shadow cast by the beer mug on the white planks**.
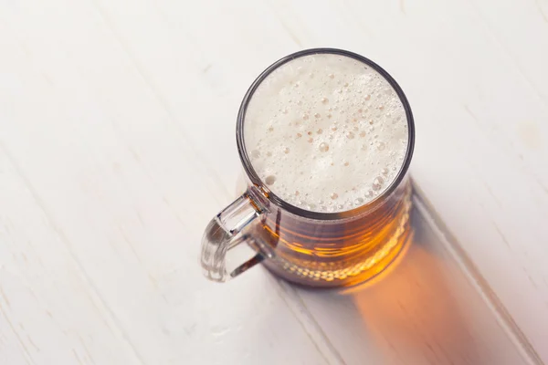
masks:
[[[524,363],[456,258],[412,216],[413,242],[374,280],[336,292],[283,287],[319,318],[332,349],[346,349],[337,356],[347,364]]]

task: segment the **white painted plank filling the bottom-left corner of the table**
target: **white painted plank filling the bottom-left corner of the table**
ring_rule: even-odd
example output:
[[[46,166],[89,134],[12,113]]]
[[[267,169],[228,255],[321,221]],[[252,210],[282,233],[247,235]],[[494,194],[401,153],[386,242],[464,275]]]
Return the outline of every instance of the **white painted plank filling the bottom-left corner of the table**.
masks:
[[[141,364],[2,148],[0,202],[0,363]]]

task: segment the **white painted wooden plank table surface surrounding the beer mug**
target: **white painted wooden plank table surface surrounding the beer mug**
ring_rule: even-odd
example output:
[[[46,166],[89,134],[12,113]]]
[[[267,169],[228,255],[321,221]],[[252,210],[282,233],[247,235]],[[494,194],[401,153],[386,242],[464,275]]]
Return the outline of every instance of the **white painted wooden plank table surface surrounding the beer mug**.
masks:
[[[378,282],[197,263],[272,61],[340,47],[416,117]],[[548,1],[0,0],[0,364],[548,363]]]

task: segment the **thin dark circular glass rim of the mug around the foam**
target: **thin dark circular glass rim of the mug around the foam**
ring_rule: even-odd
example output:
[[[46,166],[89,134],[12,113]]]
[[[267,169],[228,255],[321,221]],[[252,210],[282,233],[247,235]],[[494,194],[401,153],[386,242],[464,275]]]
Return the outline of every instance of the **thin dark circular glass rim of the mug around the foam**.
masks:
[[[306,209],[302,209],[293,204],[287,203],[286,201],[281,199],[278,195],[276,195],[276,193],[272,192],[269,189],[266,183],[263,183],[262,180],[258,177],[257,172],[255,172],[255,169],[253,168],[253,165],[251,164],[251,161],[249,160],[248,151],[246,149],[246,143],[244,141],[244,120],[246,117],[246,111],[248,110],[249,101],[253,97],[253,94],[255,93],[255,90],[258,88],[258,86],[265,80],[265,78],[267,78],[270,75],[272,71],[290,62],[291,60],[299,57],[319,55],[319,54],[332,54],[332,55],[340,55],[344,57],[352,57],[364,63],[368,67],[373,68],[383,78],[385,78],[385,80],[395,90],[396,95],[402,102],[402,106],[404,107],[404,110],[406,111],[407,138],[408,138],[406,157],[394,181],[390,184],[390,186],[388,186],[385,189],[383,193],[380,193],[372,201],[368,203],[364,203],[356,208],[345,210],[342,212],[332,212],[332,213],[313,212]],[[356,53],[343,50],[343,49],[310,48],[310,49],[303,49],[303,50],[300,50],[299,52],[292,53],[286,57],[279,58],[278,61],[271,64],[268,68],[266,68],[263,72],[260,73],[260,75],[258,76],[258,78],[255,79],[255,81],[253,81],[248,91],[246,92],[246,95],[244,96],[244,99],[242,100],[242,103],[237,113],[236,140],[237,140],[237,151],[240,157],[240,161],[242,162],[244,166],[244,171],[248,175],[249,180],[251,181],[251,183],[256,185],[261,191],[266,193],[267,199],[269,199],[271,203],[276,204],[277,206],[279,206],[279,208],[287,212],[290,212],[291,214],[299,215],[304,218],[315,219],[315,220],[339,220],[339,219],[344,219],[348,217],[359,216],[359,215],[370,212],[379,203],[383,203],[385,199],[388,196],[390,196],[391,193],[395,191],[395,189],[400,185],[400,183],[402,183],[402,181],[406,177],[406,172],[409,168],[409,164],[411,163],[411,157],[413,156],[413,150],[415,148],[415,121],[413,120],[413,113],[411,112],[411,106],[409,105],[409,102],[407,101],[406,94],[404,93],[404,91],[400,88],[397,82],[395,82],[395,79],[392,78],[390,74],[388,74],[388,72],[385,71],[384,68],[381,68],[379,65],[374,63],[374,61],[364,56],[361,56]]]

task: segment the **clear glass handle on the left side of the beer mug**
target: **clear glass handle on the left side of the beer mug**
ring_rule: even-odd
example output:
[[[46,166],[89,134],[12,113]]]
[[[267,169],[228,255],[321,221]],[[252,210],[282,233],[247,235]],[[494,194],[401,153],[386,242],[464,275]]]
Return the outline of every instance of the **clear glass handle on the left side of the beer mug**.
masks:
[[[250,228],[259,224],[258,218],[268,212],[267,202],[256,186],[250,186],[246,193],[216,214],[207,224],[202,238],[200,262],[208,279],[226,282],[271,256],[270,250],[265,249],[265,245],[249,233]],[[233,260],[227,254],[240,244],[248,244],[257,254],[236,268],[227,270],[227,264],[234,266],[231,262]]]

